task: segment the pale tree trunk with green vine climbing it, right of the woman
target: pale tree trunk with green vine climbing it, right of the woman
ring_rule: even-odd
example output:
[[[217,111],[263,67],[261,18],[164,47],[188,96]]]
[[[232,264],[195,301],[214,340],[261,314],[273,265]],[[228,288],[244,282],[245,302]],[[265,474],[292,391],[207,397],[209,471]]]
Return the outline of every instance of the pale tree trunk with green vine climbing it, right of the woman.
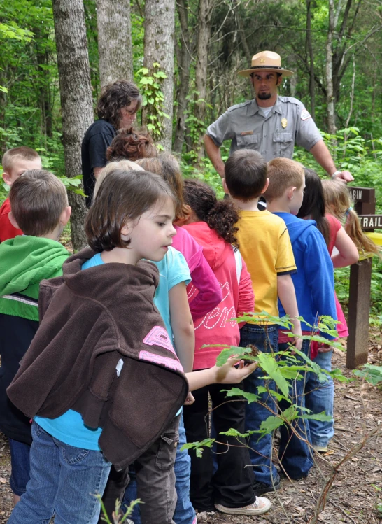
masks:
[[[171,151],[172,142],[174,104],[174,25],[174,0],[146,0],[143,66],[153,75],[155,72],[153,64],[160,64],[160,71],[167,76],[160,81],[164,95],[161,111],[169,118],[159,115],[162,125],[159,143],[169,151]],[[147,116],[147,111],[144,111],[143,123],[147,122]]]

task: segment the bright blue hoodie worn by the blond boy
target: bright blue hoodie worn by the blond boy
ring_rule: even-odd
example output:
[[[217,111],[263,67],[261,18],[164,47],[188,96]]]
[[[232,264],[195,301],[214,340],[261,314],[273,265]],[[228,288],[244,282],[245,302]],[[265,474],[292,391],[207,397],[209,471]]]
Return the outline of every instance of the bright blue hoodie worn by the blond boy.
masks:
[[[323,235],[318,231],[314,220],[302,220],[290,213],[274,213],[282,218],[288,227],[297,273],[292,274],[295,285],[299,315],[311,325],[317,323],[322,315],[337,320],[334,301],[334,271]],[[278,301],[280,316],[285,310]],[[311,331],[305,322],[302,331]],[[332,339],[327,334],[323,337]]]

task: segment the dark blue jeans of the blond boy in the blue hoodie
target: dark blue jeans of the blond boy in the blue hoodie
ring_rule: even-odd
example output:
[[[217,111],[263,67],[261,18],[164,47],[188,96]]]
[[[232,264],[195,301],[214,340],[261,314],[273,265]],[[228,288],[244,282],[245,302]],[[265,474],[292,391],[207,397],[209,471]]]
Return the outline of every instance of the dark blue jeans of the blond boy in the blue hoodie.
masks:
[[[309,353],[310,341],[304,340],[302,343],[302,353],[308,355]],[[278,344],[278,351],[288,350],[288,344]],[[305,364],[305,361],[301,357],[295,355],[297,359],[297,365]],[[281,356],[281,359],[283,357]],[[305,392],[304,387],[306,381],[309,380],[309,373],[300,371],[302,378],[299,380],[290,381],[290,400],[292,404],[295,404],[299,407],[305,407]],[[278,408],[280,411],[285,411],[290,407],[290,403],[285,400],[278,402]],[[300,413],[302,413],[300,411]],[[308,420],[302,420],[297,418],[291,423],[293,430],[299,435],[296,436],[292,432],[290,425],[282,425],[280,427],[281,440],[278,450],[278,460],[281,463],[283,472],[288,474],[291,479],[301,479],[304,476],[307,476],[309,470],[313,466],[313,458],[311,455],[311,448],[306,441],[311,442],[310,432],[309,432],[309,423]]]

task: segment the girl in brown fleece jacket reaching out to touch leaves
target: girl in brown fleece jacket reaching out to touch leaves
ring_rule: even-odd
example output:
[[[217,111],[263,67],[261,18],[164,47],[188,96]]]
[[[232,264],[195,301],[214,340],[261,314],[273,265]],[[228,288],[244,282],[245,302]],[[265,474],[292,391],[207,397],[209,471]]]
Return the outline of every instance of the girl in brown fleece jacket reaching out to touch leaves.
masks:
[[[139,459],[138,495],[144,483],[157,492],[156,504],[144,501],[142,522],[174,524],[172,466],[188,390],[237,383],[253,371],[230,359],[183,374],[153,304],[158,271],[141,260],[167,253],[175,200],[160,176],[116,169],[87,215],[90,248],[41,286],[41,325],[8,388],[13,404],[34,418],[31,481],[10,524],[53,515],[56,524],[97,523],[94,493],[102,495],[111,463]]]

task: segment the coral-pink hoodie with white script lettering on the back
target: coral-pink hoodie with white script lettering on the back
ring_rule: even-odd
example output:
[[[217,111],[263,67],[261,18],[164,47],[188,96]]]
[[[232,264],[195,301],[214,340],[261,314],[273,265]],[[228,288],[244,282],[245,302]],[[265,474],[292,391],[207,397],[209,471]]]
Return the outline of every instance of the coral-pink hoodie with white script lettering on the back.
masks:
[[[239,252],[235,255],[234,248],[218,236],[206,222],[194,222],[183,227],[203,247],[204,257],[222,289],[220,304],[194,322],[194,369],[206,369],[215,365],[216,357],[222,348],[201,349],[201,346],[204,344],[239,346],[239,325],[236,322],[229,322],[229,319],[239,316],[239,313],[253,311],[255,297],[250,274]],[[190,283],[188,294],[193,292],[197,290]]]

